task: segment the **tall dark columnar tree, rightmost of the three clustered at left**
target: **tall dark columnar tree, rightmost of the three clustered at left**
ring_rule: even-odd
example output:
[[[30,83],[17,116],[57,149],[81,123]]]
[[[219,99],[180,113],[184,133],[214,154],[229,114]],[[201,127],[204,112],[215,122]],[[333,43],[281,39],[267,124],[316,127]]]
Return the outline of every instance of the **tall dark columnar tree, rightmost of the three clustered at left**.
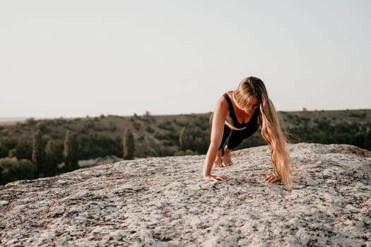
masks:
[[[76,133],[69,130],[64,138],[63,158],[66,171],[78,169],[78,141]]]

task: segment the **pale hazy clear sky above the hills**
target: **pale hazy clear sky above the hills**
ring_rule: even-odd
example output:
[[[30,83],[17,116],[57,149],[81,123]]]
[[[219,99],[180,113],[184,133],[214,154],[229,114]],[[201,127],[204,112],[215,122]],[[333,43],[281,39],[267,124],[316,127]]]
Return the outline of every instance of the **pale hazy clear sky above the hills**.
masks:
[[[371,1],[0,0],[0,117],[371,109]]]

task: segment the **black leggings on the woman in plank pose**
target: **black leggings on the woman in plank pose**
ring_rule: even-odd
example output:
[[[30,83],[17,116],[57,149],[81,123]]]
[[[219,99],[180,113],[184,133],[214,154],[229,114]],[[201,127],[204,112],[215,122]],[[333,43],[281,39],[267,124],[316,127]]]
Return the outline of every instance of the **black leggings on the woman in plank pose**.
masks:
[[[227,146],[230,150],[237,147],[240,143],[242,143],[242,140],[245,140],[246,138],[249,138],[255,131],[257,131],[259,126],[249,126],[242,131],[233,131],[228,126],[224,126],[224,132],[223,132],[223,138],[222,142],[220,143],[220,146],[218,150],[221,150],[224,146],[225,140],[228,138]]]

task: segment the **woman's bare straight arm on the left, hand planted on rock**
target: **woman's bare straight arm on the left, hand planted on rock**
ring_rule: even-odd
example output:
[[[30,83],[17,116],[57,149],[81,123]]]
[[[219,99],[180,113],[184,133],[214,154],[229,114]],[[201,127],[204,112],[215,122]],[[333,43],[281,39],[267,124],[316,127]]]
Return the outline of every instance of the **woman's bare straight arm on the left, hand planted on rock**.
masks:
[[[218,147],[223,138],[224,122],[228,113],[228,103],[224,97],[220,97],[214,111],[213,122],[211,125],[211,138],[208,152],[204,162],[204,179],[206,181],[228,181],[227,176],[212,176],[211,169],[213,168],[213,162],[216,159],[218,153]]]

